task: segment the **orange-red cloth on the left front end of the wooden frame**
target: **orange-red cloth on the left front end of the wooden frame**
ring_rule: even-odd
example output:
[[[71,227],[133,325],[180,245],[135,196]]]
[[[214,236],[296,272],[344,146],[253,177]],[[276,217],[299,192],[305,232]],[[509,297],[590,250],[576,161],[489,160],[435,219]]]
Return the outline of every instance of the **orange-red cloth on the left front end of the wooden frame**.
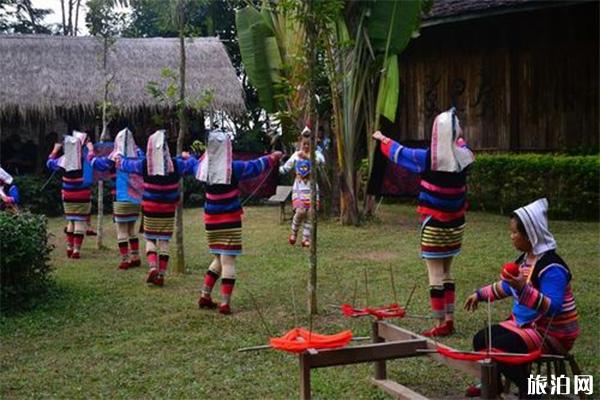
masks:
[[[294,328],[280,338],[271,338],[269,344],[277,350],[302,353],[307,349],[334,349],[346,346],[352,340],[352,331],[335,335],[321,335],[303,328]]]

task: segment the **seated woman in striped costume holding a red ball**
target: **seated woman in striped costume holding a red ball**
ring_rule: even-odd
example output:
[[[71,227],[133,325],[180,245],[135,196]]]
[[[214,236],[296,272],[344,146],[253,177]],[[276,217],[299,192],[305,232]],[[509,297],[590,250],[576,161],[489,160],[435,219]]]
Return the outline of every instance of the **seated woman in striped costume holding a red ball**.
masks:
[[[501,280],[478,289],[465,308],[475,310],[480,301],[512,297],[510,318],[491,327],[491,347],[508,353],[529,353],[542,349],[547,354],[566,353],[579,335],[577,309],[571,290],[571,271],[556,254],[556,242],[548,230],[548,201],[539,199],[521,207],[510,217],[510,238],[523,253],[515,263],[518,276],[503,272]],[[473,338],[473,348],[488,347],[487,329]],[[499,364],[499,371],[527,398],[527,365]],[[471,388],[470,388],[471,389]],[[470,390],[477,395],[476,390]]]

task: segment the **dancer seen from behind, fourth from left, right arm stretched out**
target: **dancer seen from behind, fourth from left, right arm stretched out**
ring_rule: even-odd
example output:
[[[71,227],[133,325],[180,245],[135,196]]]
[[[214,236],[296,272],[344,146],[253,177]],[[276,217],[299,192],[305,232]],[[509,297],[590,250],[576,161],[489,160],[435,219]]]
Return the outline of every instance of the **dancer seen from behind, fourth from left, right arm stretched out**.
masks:
[[[209,134],[206,152],[196,168],[196,178],[206,183],[204,226],[209,252],[214,259],[204,276],[200,308],[217,308],[231,314],[235,285],[235,257],[242,254],[242,214],[238,183],[276,167],[281,152],[252,161],[233,161],[231,138],[226,132]],[[211,292],[221,278],[221,303],[213,302]]]

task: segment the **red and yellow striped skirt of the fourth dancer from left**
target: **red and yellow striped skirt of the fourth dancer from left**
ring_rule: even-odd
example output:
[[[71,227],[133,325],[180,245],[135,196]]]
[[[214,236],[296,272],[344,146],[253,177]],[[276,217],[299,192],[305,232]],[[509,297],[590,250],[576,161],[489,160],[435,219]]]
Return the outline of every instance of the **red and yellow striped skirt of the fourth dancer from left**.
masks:
[[[204,213],[204,228],[211,254],[239,256],[242,254],[242,211]]]

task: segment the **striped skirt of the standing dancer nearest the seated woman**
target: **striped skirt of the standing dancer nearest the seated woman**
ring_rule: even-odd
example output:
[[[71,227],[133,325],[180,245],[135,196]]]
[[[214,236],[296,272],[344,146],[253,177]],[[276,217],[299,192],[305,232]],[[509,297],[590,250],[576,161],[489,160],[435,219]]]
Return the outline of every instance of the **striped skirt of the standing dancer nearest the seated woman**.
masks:
[[[427,217],[421,225],[421,257],[446,258],[460,253],[465,219],[442,222]]]

